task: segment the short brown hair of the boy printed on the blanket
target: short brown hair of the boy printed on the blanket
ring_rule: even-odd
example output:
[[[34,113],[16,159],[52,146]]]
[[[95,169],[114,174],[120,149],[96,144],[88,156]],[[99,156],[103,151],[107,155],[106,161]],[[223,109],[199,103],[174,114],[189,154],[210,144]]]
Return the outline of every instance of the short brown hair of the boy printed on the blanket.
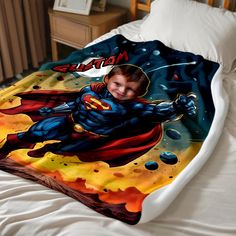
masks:
[[[123,64],[113,67],[107,74],[107,78],[110,79],[113,75],[123,75],[127,78],[127,81],[139,82],[138,96],[142,96],[147,92],[149,86],[149,79],[146,73],[138,66]]]

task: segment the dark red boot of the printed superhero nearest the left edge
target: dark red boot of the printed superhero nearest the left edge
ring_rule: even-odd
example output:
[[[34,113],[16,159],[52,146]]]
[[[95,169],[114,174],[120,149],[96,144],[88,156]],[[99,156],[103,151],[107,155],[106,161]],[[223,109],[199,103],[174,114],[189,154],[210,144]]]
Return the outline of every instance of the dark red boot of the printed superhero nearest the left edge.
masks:
[[[0,148],[0,159],[5,158],[10,152],[22,149],[30,148],[32,149],[35,146],[35,143],[29,143],[23,139],[20,139],[19,134],[9,134],[7,140],[2,148]]]

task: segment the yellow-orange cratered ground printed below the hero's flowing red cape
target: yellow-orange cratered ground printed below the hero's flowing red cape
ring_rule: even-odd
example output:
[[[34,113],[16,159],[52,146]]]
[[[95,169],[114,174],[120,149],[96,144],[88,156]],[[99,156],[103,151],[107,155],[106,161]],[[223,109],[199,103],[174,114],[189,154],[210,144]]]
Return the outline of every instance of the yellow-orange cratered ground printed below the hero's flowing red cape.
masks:
[[[41,146],[42,144],[38,144],[35,148]],[[106,189],[112,195],[135,187],[136,191],[146,195],[171,183],[189,163],[189,156],[194,156],[200,147],[201,143],[195,143],[182,152],[176,151],[179,161],[175,165],[167,165],[160,160],[159,154],[163,148],[153,149],[135,161],[117,168],[110,168],[103,162],[82,162],[76,156],[66,157],[50,152],[43,158],[31,158],[27,155],[28,149],[14,151],[10,157],[52,178],[56,176],[60,182],[85,193],[99,193]],[[158,169],[147,170],[144,165],[148,160],[156,160]]]

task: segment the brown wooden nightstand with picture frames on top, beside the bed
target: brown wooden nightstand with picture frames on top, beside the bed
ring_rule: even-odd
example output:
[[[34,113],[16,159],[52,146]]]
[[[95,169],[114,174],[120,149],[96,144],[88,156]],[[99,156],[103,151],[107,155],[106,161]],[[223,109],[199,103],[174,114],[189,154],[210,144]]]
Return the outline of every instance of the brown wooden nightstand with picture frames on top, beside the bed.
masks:
[[[127,22],[128,9],[108,5],[105,12],[79,15],[49,9],[52,60],[58,60],[57,43],[73,48],[86,44]]]

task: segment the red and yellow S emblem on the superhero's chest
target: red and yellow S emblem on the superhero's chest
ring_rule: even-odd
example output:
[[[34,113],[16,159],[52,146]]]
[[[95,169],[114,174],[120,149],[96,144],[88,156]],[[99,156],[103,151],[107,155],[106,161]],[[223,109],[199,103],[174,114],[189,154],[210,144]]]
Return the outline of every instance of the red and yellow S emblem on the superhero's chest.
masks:
[[[85,95],[83,100],[86,110],[111,110],[111,106],[109,104],[97,99],[90,94]]]

